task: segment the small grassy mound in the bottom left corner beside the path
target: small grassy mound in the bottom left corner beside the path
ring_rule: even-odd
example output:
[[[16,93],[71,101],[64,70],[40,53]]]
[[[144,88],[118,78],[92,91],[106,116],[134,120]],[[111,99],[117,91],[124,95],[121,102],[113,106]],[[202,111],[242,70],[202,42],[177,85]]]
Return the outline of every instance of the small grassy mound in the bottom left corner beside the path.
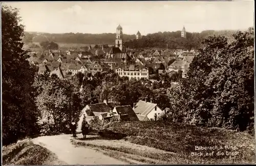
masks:
[[[15,144],[3,146],[4,165],[48,165],[66,164],[60,161],[54,153],[39,145],[33,144],[31,139],[25,139]]]

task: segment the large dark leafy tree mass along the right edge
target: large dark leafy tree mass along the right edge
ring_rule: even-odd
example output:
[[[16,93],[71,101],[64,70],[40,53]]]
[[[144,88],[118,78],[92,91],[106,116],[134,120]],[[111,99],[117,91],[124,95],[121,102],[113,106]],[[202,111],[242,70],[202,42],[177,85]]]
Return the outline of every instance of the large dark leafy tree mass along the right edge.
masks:
[[[233,38],[204,40],[187,77],[169,92],[176,121],[241,131],[253,124],[253,29]]]

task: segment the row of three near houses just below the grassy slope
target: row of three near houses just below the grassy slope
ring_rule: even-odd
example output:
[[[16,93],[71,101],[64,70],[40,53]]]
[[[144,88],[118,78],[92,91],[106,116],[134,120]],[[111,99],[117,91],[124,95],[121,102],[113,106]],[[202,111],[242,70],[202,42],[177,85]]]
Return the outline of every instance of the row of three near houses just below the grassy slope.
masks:
[[[115,106],[114,102],[88,104],[81,110],[81,116],[78,121],[77,130],[81,129],[83,117],[90,124],[93,118],[99,120],[106,120],[117,117],[119,121],[157,121],[163,115],[169,112],[169,108],[162,110],[156,103],[152,103],[152,99],[148,102],[139,100],[131,105]]]

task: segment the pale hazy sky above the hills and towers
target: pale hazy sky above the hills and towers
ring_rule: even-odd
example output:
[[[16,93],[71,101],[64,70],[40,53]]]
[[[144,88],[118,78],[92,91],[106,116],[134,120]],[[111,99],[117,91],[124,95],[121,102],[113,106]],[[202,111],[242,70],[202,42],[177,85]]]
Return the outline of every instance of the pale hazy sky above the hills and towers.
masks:
[[[238,30],[253,26],[254,2],[13,2],[25,31],[123,33]]]

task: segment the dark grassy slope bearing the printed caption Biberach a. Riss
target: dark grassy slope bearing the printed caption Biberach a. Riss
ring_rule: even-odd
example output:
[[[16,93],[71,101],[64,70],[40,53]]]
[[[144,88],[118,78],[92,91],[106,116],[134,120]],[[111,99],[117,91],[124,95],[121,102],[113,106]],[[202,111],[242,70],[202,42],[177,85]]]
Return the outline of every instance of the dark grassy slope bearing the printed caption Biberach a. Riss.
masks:
[[[184,163],[254,163],[254,137],[248,133],[235,132],[218,128],[196,127],[178,123],[162,122],[122,122],[114,123],[110,130],[129,136],[125,141],[174,152]],[[223,150],[204,150],[215,152],[214,156],[191,156],[195,146],[218,146]],[[236,146],[237,150],[225,149]],[[238,151],[236,156],[217,156],[218,151],[226,153]],[[200,152],[200,151],[197,151]]]

